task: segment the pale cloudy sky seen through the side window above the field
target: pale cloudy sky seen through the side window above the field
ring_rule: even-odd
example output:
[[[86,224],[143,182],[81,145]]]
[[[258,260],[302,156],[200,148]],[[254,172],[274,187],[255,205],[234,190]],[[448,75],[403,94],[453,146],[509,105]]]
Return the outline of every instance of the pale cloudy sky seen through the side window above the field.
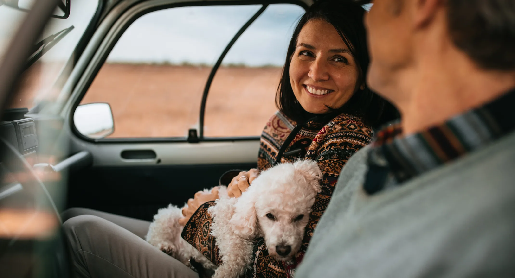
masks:
[[[109,62],[214,64],[261,5],[183,7],[148,13],[122,35]],[[231,47],[224,64],[282,66],[304,10],[270,5]]]

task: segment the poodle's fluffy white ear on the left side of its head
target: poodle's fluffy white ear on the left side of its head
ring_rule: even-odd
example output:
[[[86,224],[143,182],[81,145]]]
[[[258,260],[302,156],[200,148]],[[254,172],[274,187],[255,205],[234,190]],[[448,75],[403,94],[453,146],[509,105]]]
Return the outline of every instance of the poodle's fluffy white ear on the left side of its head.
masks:
[[[243,238],[251,238],[256,232],[258,216],[255,210],[255,193],[252,186],[242,193],[234,204],[234,214],[230,220],[230,224],[234,229],[234,233]]]

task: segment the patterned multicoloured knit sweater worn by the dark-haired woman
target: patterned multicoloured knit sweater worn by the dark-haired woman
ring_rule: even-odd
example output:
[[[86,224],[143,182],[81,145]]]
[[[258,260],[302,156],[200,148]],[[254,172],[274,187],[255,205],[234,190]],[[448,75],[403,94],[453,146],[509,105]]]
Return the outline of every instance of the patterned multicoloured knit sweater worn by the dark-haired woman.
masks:
[[[296,123],[282,113],[274,114],[263,130],[258,156],[258,169],[265,170],[276,161],[279,149]],[[247,277],[291,277],[296,266],[302,260],[318,220],[329,204],[334,186],[341,168],[359,149],[370,143],[372,130],[361,119],[342,113],[329,123],[312,120],[304,124],[294,140],[286,148],[281,163],[297,159],[311,159],[318,162],[323,172],[320,182],[322,191],[318,193],[312,207],[313,212],[306,226],[300,251],[290,262],[281,262],[268,254],[263,238],[256,239],[254,245],[254,263],[245,276]],[[300,149],[300,150],[299,150]],[[298,150],[298,151],[295,151]],[[182,232],[182,237],[197,248],[214,264],[221,264],[221,257],[215,245],[215,238],[210,235],[212,219],[207,213],[214,202],[201,205],[190,218]]]

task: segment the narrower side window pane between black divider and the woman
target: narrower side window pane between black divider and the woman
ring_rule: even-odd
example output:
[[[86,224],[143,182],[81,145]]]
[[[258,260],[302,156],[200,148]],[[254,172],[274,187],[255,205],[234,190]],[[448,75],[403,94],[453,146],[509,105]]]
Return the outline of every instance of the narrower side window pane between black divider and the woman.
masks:
[[[205,108],[204,136],[259,136],[277,111],[275,96],[291,35],[304,9],[273,4],[229,50]]]

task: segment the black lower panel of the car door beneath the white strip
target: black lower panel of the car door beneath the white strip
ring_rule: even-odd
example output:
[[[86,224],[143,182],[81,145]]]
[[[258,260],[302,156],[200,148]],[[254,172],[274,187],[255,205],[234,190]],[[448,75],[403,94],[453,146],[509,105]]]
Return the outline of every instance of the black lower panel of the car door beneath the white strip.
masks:
[[[255,167],[256,163],[94,166],[70,176],[67,206],[151,221],[159,208],[170,203],[180,207],[197,191],[218,185],[227,170]]]

